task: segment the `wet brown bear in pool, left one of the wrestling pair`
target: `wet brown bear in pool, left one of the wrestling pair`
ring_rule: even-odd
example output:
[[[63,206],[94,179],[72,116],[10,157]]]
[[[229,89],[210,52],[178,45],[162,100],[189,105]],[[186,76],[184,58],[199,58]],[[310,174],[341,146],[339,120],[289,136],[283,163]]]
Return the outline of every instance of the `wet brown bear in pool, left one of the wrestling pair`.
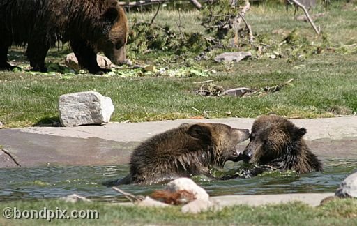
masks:
[[[227,160],[241,160],[236,148],[248,139],[248,132],[218,123],[182,124],[140,144],[132,153],[130,173],[117,184],[152,184],[197,174],[211,176],[211,167],[223,167]]]

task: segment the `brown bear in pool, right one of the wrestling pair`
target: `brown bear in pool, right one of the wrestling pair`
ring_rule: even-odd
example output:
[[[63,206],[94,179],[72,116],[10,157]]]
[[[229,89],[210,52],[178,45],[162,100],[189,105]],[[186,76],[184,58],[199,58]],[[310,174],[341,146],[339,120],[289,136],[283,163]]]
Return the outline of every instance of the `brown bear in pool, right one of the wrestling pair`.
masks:
[[[305,128],[281,116],[260,116],[253,123],[250,143],[243,151],[245,162],[260,166],[250,170],[250,176],[267,169],[292,169],[298,174],[322,171],[322,163],[303,139],[305,133]]]

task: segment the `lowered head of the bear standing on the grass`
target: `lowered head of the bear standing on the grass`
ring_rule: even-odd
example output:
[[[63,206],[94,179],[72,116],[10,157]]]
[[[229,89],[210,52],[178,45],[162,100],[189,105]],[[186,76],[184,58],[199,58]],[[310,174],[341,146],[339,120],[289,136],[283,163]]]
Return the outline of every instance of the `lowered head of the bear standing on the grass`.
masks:
[[[121,65],[126,63],[126,40],[128,36],[128,19],[123,8],[116,0],[107,0],[107,7],[103,12],[104,36],[98,40],[97,51],[104,52],[112,63]]]

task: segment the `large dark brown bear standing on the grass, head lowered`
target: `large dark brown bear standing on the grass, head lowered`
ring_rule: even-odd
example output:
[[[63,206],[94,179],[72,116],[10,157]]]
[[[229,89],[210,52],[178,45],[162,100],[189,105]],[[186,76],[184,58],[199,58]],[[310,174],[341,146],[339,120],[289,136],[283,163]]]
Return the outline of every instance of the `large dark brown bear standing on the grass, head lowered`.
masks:
[[[79,65],[89,73],[105,73],[96,53],[113,63],[126,60],[128,21],[116,0],[1,0],[0,70],[12,70],[8,48],[27,45],[32,70],[45,72],[45,57],[57,41],[69,42]]]

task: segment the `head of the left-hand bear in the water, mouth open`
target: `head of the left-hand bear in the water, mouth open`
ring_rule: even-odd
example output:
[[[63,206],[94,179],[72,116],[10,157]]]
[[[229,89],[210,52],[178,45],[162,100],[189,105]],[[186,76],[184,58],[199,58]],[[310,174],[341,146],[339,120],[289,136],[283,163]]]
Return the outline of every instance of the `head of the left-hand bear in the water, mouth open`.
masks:
[[[215,165],[223,167],[227,160],[241,160],[237,145],[248,139],[249,130],[220,123],[197,123],[188,127],[188,134],[209,147],[209,151],[213,151]]]

